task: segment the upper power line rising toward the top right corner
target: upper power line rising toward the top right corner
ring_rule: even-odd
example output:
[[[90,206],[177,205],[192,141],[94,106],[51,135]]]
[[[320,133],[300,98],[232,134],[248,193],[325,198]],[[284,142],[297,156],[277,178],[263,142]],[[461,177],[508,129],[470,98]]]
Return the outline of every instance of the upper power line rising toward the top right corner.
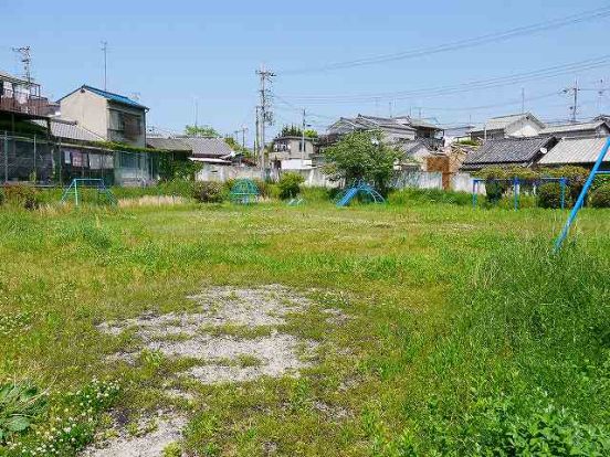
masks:
[[[336,62],[332,64],[307,67],[307,68],[288,70],[288,71],[280,72],[280,74],[285,76],[285,75],[298,75],[298,74],[306,74],[306,73],[327,72],[327,71],[334,71],[334,70],[353,68],[356,66],[379,64],[379,63],[391,62],[391,61],[421,57],[430,54],[439,54],[439,53],[449,52],[449,51],[456,51],[461,49],[480,46],[483,44],[497,43],[501,41],[509,40],[515,36],[530,35],[549,29],[558,29],[558,28],[562,28],[562,26],[567,26],[576,23],[606,18],[608,15],[610,15],[610,7],[603,7],[595,10],[585,11],[578,14],[568,15],[565,18],[538,22],[530,25],[518,26],[503,32],[495,32],[495,33],[469,38],[464,40],[458,40],[458,41],[439,44],[434,46],[403,51],[403,52],[398,52],[393,54],[381,54],[377,56],[358,59],[354,61]]]

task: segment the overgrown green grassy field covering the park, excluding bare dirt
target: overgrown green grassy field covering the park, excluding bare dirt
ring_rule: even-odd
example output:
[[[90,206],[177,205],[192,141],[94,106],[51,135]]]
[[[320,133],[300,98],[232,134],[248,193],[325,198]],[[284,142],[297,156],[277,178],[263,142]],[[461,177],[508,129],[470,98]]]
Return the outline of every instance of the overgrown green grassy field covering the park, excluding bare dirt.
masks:
[[[128,427],[159,408],[188,418],[168,456],[610,455],[610,212],[582,211],[555,256],[566,215],[412,195],[2,209],[0,379],[49,395],[0,455],[72,418],[55,443],[71,455],[112,417]],[[317,342],[299,378],[185,381],[189,400],[170,398],[160,386],[192,361],[108,362],[134,341],[102,322],[269,284],[316,304],[283,326]],[[349,318],[329,326],[325,308]]]

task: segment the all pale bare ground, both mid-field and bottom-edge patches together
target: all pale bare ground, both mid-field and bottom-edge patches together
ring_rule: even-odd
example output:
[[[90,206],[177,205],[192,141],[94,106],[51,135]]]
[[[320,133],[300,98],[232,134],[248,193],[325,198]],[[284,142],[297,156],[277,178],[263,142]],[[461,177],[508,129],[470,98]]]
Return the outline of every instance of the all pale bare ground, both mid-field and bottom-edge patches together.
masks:
[[[261,376],[298,376],[315,352],[313,341],[282,333],[290,313],[304,312],[311,300],[278,285],[259,288],[212,287],[189,297],[200,308],[197,312],[146,315],[135,319],[104,322],[98,329],[118,336],[134,331],[141,341],[135,352],[113,354],[111,360],[129,363],[141,351],[155,351],[168,358],[197,359],[201,363],[181,375],[204,384],[253,381]],[[338,310],[326,310],[328,322],[345,318]],[[260,331],[260,334],[259,334]],[[187,392],[168,389],[168,396],[188,397]],[[144,436],[118,436],[91,448],[83,456],[160,456],[165,446],[180,440],[186,421],[159,413],[154,431]]]

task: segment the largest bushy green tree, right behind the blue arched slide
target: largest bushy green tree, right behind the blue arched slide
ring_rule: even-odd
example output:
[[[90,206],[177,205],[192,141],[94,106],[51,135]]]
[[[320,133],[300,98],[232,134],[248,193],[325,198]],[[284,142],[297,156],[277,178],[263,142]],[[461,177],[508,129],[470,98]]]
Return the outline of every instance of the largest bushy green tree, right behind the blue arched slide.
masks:
[[[345,179],[347,184],[364,180],[386,192],[395,163],[402,156],[383,144],[380,131],[355,131],[324,150],[324,173],[333,181]]]

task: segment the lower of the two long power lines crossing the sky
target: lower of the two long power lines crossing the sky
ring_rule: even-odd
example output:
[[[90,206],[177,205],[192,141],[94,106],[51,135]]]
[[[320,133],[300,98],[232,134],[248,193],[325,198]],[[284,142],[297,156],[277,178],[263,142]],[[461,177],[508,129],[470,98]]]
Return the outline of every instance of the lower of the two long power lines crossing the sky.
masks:
[[[283,99],[291,100],[306,100],[309,104],[328,104],[328,103],[350,103],[350,102],[377,102],[379,99],[406,99],[413,97],[434,97],[441,95],[459,94],[463,92],[473,92],[478,89],[496,88],[512,84],[520,84],[528,81],[545,79],[549,77],[562,76],[566,74],[572,74],[574,72],[581,72],[588,70],[595,70],[603,67],[610,64],[610,54],[602,55],[600,57],[588,59],[585,61],[572,62],[569,64],[561,64],[549,66],[536,71],[524,72],[515,75],[493,77],[488,79],[478,79],[470,83],[461,83],[452,86],[444,87],[429,87],[414,91],[398,91],[390,93],[379,94],[358,94],[358,95],[317,95],[317,96],[294,96],[283,95]]]

